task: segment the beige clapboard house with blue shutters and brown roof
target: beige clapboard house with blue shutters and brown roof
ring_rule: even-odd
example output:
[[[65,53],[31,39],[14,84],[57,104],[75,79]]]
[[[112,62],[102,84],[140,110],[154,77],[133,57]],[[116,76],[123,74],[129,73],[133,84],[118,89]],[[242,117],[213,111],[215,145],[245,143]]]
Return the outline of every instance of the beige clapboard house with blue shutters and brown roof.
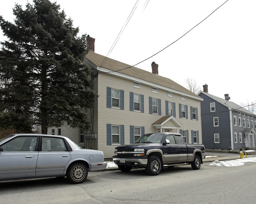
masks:
[[[144,133],[181,133],[189,144],[202,143],[202,98],[159,76],[156,63],[152,63],[150,73],[105,59],[94,52],[95,39],[87,40],[90,51],[83,63],[93,70],[98,94],[95,106],[85,110],[91,129],[52,127],[48,134],[63,135],[84,148],[101,150],[105,158],[112,157],[118,145],[134,143]]]

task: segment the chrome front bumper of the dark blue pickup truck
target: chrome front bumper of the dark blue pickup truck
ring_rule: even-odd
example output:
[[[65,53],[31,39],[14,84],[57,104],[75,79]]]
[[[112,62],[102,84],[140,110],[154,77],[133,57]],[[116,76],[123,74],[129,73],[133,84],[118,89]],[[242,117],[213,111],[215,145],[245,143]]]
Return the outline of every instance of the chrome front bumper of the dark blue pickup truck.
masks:
[[[147,167],[148,158],[115,158],[113,162],[120,166]]]

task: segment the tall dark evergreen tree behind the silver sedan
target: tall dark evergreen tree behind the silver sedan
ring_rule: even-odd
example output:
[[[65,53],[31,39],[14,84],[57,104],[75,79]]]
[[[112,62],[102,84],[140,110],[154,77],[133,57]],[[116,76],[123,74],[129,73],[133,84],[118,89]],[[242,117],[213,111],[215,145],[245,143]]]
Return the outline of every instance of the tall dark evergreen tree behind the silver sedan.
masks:
[[[24,123],[47,127],[67,122],[89,128],[83,109],[92,107],[90,69],[82,64],[87,54],[85,35],[78,35],[60,5],[33,0],[26,9],[16,4],[14,23],[0,16],[8,40],[1,42],[0,111],[15,113]]]

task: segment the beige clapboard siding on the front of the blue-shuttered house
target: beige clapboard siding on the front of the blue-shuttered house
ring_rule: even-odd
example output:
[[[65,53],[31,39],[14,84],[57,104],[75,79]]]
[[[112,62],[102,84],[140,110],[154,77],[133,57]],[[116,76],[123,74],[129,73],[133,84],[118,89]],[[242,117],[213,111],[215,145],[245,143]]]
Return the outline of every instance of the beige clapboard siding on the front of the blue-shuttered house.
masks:
[[[189,132],[189,143],[191,143],[191,130],[198,131],[199,142],[202,143],[202,131],[201,131],[201,117],[200,117],[200,100],[186,97],[186,100],[181,100],[181,95],[173,93],[173,97],[168,97],[166,90],[158,89],[158,93],[152,92],[152,87],[141,84],[140,88],[136,88],[133,85],[133,80],[108,75],[98,75],[98,148],[104,152],[106,158],[112,157],[114,148],[118,145],[107,145],[107,124],[111,125],[123,125],[124,126],[124,144],[130,144],[131,134],[130,127],[142,127],[145,129],[145,133],[156,132],[156,128],[152,126],[156,120],[165,116],[165,101],[175,102],[176,104],[184,104],[187,106],[193,106],[197,108],[198,120],[191,120],[190,108],[188,109],[188,119],[179,118],[177,116],[178,106],[176,106],[176,119],[182,124],[180,129],[187,130]],[[107,87],[112,89],[118,89],[124,91],[124,109],[121,108],[108,108],[107,107]],[[130,92],[144,96],[144,113],[139,111],[130,110]],[[158,111],[157,114],[150,114],[150,98],[159,99],[158,107],[161,107],[161,114]],[[179,129],[176,130],[179,133]]]

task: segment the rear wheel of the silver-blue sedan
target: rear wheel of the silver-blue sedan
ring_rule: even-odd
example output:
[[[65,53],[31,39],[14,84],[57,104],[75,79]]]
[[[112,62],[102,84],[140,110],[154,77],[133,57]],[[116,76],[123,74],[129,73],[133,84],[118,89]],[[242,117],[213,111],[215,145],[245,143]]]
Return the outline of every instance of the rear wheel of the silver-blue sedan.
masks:
[[[87,178],[87,175],[88,175],[88,168],[85,166],[85,164],[80,162],[71,164],[66,174],[67,179],[72,184],[82,183]]]

